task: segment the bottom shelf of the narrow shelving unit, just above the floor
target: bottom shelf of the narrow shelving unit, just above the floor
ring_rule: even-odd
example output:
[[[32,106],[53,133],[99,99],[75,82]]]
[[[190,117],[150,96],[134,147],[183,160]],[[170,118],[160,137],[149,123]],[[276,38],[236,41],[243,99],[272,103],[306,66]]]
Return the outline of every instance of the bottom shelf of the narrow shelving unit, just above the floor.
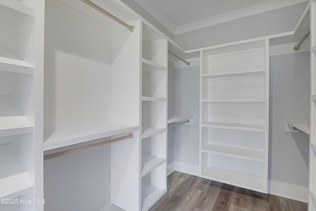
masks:
[[[154,185],[142,184],[142,196],[146,196],[146,198],[142,198],[142,211],[147,211],[152,207],[165,192],[166,190]]]

